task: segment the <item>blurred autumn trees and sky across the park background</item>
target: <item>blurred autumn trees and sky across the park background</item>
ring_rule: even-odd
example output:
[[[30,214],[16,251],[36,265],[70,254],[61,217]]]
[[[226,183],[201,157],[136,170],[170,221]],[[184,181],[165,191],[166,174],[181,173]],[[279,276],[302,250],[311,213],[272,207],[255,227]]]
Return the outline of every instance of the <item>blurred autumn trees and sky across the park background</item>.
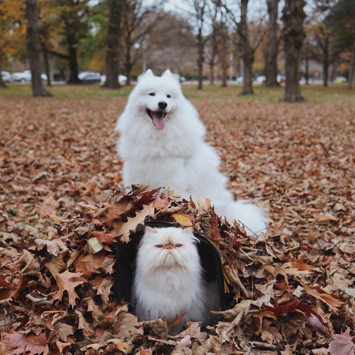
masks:
[[[80,72],[119,88],[147,68],[181,80],[278,86],[290,100],[301,83],[354,80],[354,0],[37,0],[39,68],[46,82],[80,84]],[[178,5],[176,5],[178,4]],[[302,8],[295,35],[295,17]],[[301,13],[301,12],[300,12]],[[299,13],[299,14],[300,14]],[[290,20],[290,21],[287,21]],[[0,0],[0,68],[30,69],[25,0]],[[297,39],[296,39],[297,38]],[[297,53],[289,50],[297,47]],[[287,63],[295,62],[288,71]],[[46,75],[44,75],[46,74]],[[5,86],[5,76],[0,86]],[[85,82],[85,81],[84,81]],[[297,93],[298,92],[298,93]],[[286,95],[285,95],[286,97]]]

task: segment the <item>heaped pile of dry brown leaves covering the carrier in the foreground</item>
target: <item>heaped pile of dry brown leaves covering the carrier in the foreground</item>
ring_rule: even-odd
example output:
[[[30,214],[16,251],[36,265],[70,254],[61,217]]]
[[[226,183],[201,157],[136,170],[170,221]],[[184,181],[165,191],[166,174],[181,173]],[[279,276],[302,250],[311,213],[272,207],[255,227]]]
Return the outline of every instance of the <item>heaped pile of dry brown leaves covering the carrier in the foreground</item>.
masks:
[[[138,323],[114,300],[114,249],[144,220],[194,225],[220,252],[233,308],[201,332],[189,323],[176,337],[163,320]],[[6,240],[16,248],[13,241]],[[23,354],[326,354],[351,353],[351,290],[326,270],[265,239],[252,241],[213,213],[208,200],[158,195],[149,186],[114,192],[107,206],[81,204],[45,236],[21,240],[21,257],[0,274],[4,353]],[[340,246],[339,246],[340,247]],[[355,269],[351,271],[355,273]],[[346,331],[342,332],[346,324]],[[346,349],[346,352],[345,352]]]

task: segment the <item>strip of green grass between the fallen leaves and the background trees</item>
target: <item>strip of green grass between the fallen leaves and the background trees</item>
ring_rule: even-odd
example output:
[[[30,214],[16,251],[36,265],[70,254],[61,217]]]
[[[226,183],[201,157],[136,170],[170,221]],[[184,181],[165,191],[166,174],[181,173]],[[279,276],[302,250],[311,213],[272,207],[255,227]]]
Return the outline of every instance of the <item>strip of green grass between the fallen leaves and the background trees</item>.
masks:
[[[0,96],[5,98],[31,97],[30,84],[8,84],[6,89],[0,88]],[[46,87],[57,98],[84,99],[92,97],[127,97],[133,86],[124,86],[119,90],[106,89],[99,85],[55,85]],[[279,102],[284,94],[284,86],[269,88],[263,85],[253,86],[254,95],[240,95],[241,84],[230,84],[226,88],[219,84],[205,84],[203,90],[197,90],[196,85],[183,84],[182,90],[188,99],[225,99],[238,102]],[[355,102],[355,90],[349,91],[345,84],[330,84],[324,88],[321,84],[302,85],[301,93],[309,102],[334,102],[351,104]]]

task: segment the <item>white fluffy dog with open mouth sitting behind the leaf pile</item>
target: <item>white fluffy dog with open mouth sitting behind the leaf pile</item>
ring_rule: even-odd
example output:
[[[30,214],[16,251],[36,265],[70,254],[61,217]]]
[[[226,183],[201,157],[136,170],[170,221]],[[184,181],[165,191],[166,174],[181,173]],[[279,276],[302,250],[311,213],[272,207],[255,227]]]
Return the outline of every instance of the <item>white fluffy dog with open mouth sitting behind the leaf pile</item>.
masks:
[[[161,77],[148,70],[138,78],[116,130],[125,186],[169,186],[195,203],[208,197],[217,214],[240,220],[247,234],[265,231],[265,212],[248,200],[235,202],[226,189],[220,159],[204,141],[206,128],[170,70]]]

